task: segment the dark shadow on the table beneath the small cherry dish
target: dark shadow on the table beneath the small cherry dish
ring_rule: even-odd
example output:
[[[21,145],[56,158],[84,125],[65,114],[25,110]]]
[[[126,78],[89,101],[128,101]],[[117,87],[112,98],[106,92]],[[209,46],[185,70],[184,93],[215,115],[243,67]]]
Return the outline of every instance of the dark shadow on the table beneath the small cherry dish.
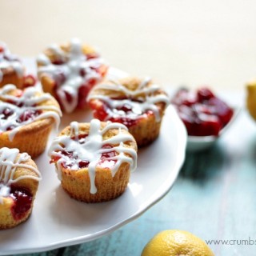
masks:
[[[225,152],[218,144],[201,152],[186,152],[179,177],[190,178],[199,183],[206,182],[223,169],[224,159]]]

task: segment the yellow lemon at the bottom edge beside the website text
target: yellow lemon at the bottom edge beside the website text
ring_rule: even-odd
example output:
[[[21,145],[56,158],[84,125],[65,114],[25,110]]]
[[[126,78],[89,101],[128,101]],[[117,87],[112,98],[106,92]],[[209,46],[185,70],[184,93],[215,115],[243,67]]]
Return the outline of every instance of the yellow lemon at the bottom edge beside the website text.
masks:
[[[214,256],[214,253],[190,232],[165,230],[146,244],[142,256]]]

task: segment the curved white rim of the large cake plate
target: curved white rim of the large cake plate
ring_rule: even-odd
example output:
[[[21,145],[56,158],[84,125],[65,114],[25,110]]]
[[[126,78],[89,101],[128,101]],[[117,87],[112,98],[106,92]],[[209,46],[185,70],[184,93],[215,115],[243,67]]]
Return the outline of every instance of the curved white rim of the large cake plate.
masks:
[[[120,74],[122,75],[126,74],[126,72],[122,70],[118,70],[117,68],[114,68],[114,67],[111,67],[110,70],[111,72],[114,72],[117,74],[118,72],[120,72]],[[170,112],[170,114],[167,114],[168,112]],[[119,221],[114,225],[107,227],[104,230],[100,230],[94,234],[86,234],[86,235],[78,236],[75,238],[68,238],[60,242],[50,243],[49,245],[46,245],[46,246],[37,246],[37,247],[22,248],[19,250],[15,249],[15,250],[8,250],[8,251],[1,251],[0,249],[0,255],[39,253],[47,250],[54,250],[63,246],[74,246],[83,242],[90,242],[97,238],[102,238],[103,236],[110,234],[115,230],[118,230],[119,228],[126,225],[127,223],[134,221],[136,218],[144,214],[146,210],[149,210],[150,207],[154,206],[157,202],[159,202],[162,198],[164,198],[166,194],[171,190],[172,186],[174,186],[174,183],[178,178],[179,171],[181,170],[183,162],[185,161],[186,143],[187,143],[186,128],[183,122],[181,121],[181,119],[178,118],[178,114],[177,114],[177,111],[174,109],[174,106],[170,105],[167,107],[166,114],[163,117],[162,122],[169,122],[168,120],[164,120],[164,118],[167,118],[166,115],[170,115],[172,118],[174,118],[174,122],[173,122],[175,126],[174,130],[177,134],[178,145],[177,145],[177,149],[175,149],[174,166],[170,172],[171,174],[168,176],[166,181],[162,183],[162,186],[158,187],[158,189],[154,191],[154,194],[151,194],[150,197],[147,198],[146,202],[143,202],[138,207],[137,211],[131,214],[128,218],[125,218],[122,221]],[[161,136],[161,130],[160,130],[160,136]],[[5,232],[5,230],[2,230],[1,232]]]

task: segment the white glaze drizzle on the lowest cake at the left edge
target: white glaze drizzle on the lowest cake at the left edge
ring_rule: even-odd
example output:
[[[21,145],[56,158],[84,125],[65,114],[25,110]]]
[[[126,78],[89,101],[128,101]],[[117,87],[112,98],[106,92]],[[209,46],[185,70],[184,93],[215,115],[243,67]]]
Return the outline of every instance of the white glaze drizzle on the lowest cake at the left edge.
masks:
[[[18,157],[18,154],[18,149],[9,149],[7,147],[0,149],[0,203],[3,202],[3,198],[10,196],[10,186],[13,183],[24,178],[31,178],[36,181],[41,180],[41,174],[37,168],[23,163],[30,159],[30,155],[22,153]],[[15,171],[18,167],[32,170],[38,176],[23,175],[14,178]]]

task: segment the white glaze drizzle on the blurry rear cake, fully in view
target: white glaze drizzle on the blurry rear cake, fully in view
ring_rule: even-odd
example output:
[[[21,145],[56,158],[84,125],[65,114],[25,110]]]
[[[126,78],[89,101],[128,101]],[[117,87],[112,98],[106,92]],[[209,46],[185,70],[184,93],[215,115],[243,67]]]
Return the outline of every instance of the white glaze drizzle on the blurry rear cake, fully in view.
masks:
[[[54,44],[49,47],[55,56],[58,56],[62,62],[61,65],[54,65],[50,62],[50,58],[46,54],[40,54],[38,56],[38,64],[42,65],[38,68],[38,77],[50,76],[54,81],[58,79],[59,74],[65,76],[65,81],[58,86],[56,93],[60,99],[64,110],[67,113],[74,111],[78,106],[78,89],[82,85],[94,78],[97,81],[101,79],[100,74],[94,69],[102,66],[102,58],[87,59],[86,55],[82,53],[82,43],[77,39],[73,38],[70,42],[70,52],[64,52],[60,46]],[[81,75],[83,70],[85,75]],[[66,99],[66,94],[70,94],[72,100],[69,102]]]

